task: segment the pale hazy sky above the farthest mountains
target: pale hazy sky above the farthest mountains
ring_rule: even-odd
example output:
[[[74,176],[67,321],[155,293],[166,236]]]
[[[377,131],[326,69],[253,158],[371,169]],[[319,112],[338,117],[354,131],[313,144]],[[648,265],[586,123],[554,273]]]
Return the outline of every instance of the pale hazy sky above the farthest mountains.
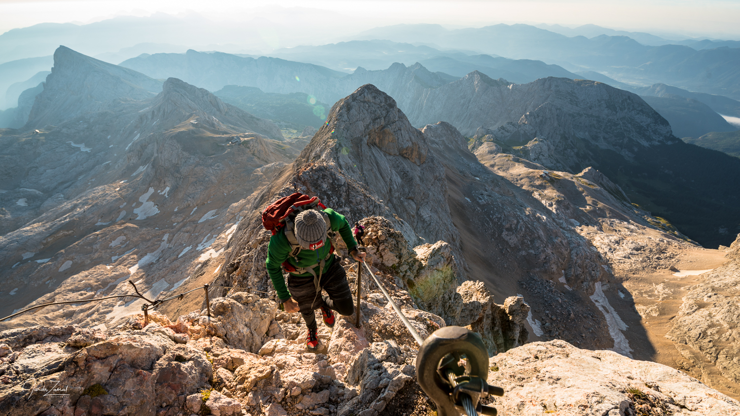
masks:
[[[740,0],[0,0],[0,33],[43,22],[101,21],[115,16],[149,16],[194,11],[213,21],[266,18],[290,22],[312,33],[333,29],[352,35],[399,23],[481,27],[497,23],[598,24],[650,33],[681,33],[740,39]],[[338,34],[338,33],[337,33]]]

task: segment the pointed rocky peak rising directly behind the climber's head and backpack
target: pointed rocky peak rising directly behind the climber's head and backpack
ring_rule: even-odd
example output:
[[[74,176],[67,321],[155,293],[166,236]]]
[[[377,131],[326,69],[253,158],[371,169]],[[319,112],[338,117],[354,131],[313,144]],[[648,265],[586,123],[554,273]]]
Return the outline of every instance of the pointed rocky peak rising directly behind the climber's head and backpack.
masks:
[[[428,155],[424,135],[392,98],[366,85],[334,104],[327,123],[293,163],[292,177],[263,194],[260,205],[302,191],[351,221],[383,216],[412,245],[443,240],[458,250],[445,186],[444,168]],[[237,247],[255,236],[257,221],[252,216],[242,222]]]

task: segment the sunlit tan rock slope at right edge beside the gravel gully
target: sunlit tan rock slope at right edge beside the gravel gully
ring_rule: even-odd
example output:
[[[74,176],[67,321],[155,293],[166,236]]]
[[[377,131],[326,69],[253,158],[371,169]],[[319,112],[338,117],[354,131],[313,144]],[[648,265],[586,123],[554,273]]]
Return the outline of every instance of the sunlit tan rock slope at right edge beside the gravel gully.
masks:
[[[740,391],[740,234],[726,250],[729,262],[687,287],[665,335],[692,365],[690,374],[712,386]]]

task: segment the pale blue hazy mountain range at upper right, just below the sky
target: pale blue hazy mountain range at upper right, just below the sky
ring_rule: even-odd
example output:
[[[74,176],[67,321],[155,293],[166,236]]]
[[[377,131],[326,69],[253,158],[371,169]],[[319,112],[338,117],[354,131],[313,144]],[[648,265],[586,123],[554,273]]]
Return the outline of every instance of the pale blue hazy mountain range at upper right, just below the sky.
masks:
[[[447,30],[439,25],[377,27],[360,39],[381,38],[442,48],[465,48],[512,59],[539,59],[573,72],[593,70],[636,84],[671,83],[682,88],[740,99],[740,48],[695,50],[640,44],[627,36],[568,37],[527,24],[496,24]]]

